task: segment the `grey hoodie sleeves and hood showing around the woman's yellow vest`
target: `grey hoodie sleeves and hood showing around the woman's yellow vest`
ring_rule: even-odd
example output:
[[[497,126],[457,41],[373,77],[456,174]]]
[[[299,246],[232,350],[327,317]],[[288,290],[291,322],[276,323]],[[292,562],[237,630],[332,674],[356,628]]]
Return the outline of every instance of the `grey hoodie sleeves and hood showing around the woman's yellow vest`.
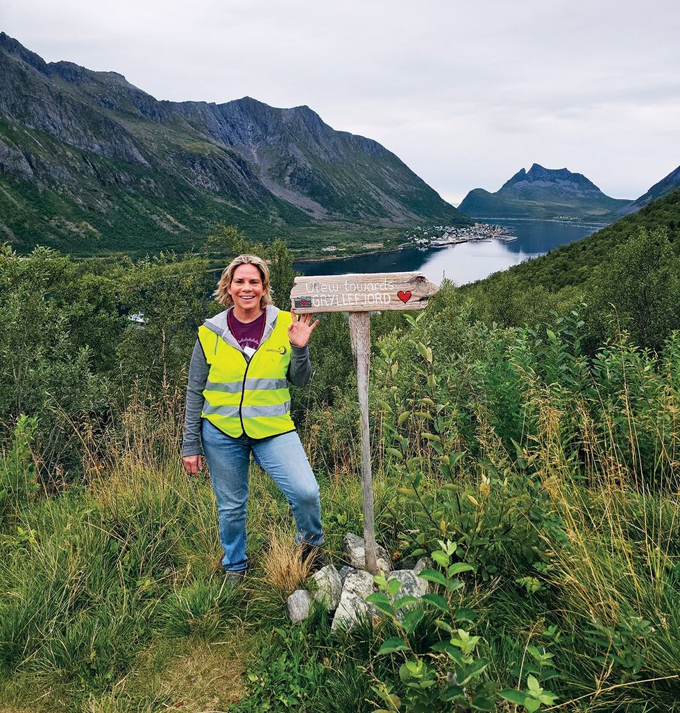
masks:
[[[250,361],[250,357],[243,352],[240,344],[236,341],[234,335],[229,329],[227,322],[228,309],[225,309],[215,317],[210,317],[204,322],[204,326],[208,327],[211,332],[215,332],[218,337],[224,339],[227,344],[230,344],[234,349],[245,356],[246,361]],[[265,317],[265,331],[262,335],[260,344],[263,344],[274,330],[276,317],[280,309],[272,304],[267,306],[267,315]],[[182,443],[183,456],[196,456],[201,453],[201,411],[203,411],[203,389],[205,389],[205,381],[208,380],[208,371],[210,366],[205,361],[205,354],[201,342],[196,339],[196,344],[193,347],[191,361],[189,362],[189,378],[186,389],[186,411],[184,413],[184,440]],[[293,347],[290,346],[290,366],[288,366],[288,374],[286,378],[295,386],[307,386],[310,376],[312,375],[312,364],[309,358],[309,347]]]

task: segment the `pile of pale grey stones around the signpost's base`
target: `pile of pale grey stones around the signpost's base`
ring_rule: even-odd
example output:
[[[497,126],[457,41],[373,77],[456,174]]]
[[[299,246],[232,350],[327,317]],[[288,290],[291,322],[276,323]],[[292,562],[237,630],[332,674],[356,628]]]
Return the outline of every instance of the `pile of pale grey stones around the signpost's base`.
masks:
[[[320,602],[333,615],[332,630],[338,627],[351,628],[357,618],[370,614],[379,615],[375,607],[366,602],[366,597],[377,590],[373,576],[366,571],[365,544],[363,538],[352,533],[345,535],[343,560],[347,565],[338,571],[333,565],[320,569],[311,577],[310,591],[298,589],[288,597],[288,615],[295,624],[305,620],[313,602]],[[377,567],[385,577],[395,577],[401,583],[397,597],[410,595],[422,597],[427,593],[428,583],[418,575],[430,566],[426,558],[414,563],[412,569],[392,570],[390,555],[377,545]]]

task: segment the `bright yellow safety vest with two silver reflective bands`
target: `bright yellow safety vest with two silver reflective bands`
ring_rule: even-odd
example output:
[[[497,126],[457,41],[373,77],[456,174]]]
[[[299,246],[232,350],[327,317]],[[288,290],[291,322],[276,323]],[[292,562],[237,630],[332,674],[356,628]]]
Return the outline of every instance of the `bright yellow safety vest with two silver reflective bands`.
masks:
[[[279,312],[273,332],[250,361],[205,325],[198,327],[210,366],[201,418],[233,438],[244,433],[250,438],[268,438],[295,431],[286,379],[291,321],[290,313]]]

